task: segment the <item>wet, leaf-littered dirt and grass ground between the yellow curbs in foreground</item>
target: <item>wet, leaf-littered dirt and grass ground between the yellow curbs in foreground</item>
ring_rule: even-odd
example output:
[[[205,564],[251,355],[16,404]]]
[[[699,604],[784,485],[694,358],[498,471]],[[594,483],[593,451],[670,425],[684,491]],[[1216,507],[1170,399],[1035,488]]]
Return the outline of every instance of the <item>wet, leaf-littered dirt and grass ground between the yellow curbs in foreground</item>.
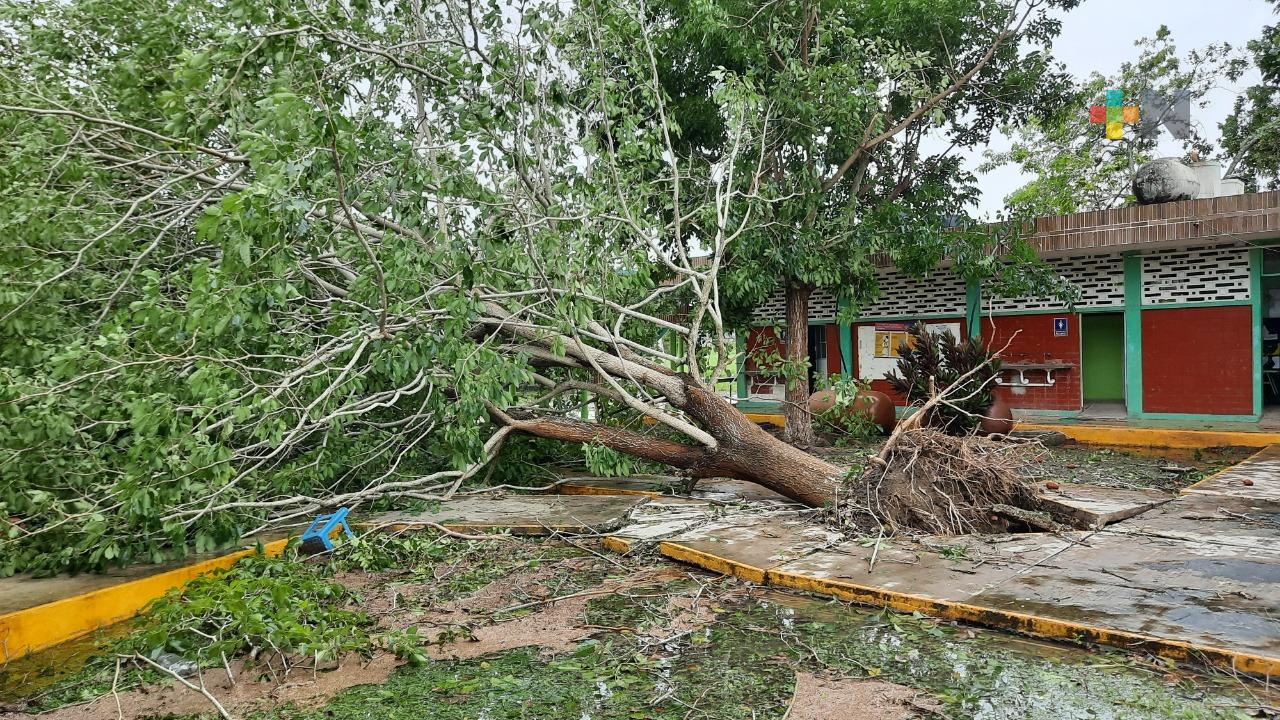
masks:
[[[261,720],[1243,719],[1280,701],[1254,680],[869,611],[657,557],[616,559],[590,541],[456,548],[407,570],[334,575],[380,626],[416,625],[434,638],[426,662],[383,652],[265,682],[237,662],[237,684],[211,667],[206,685],[237,717]],[[443,632],[456,626],[467,632]],[[110,666],[74,669],[92,650],[10,665],[0,673],[6,701],[69,705],[42,715],[50,720],[209,716],[200,694],[136,671],[119,683],[118,714]],[[805,714],[823,702],[822,715]]]

